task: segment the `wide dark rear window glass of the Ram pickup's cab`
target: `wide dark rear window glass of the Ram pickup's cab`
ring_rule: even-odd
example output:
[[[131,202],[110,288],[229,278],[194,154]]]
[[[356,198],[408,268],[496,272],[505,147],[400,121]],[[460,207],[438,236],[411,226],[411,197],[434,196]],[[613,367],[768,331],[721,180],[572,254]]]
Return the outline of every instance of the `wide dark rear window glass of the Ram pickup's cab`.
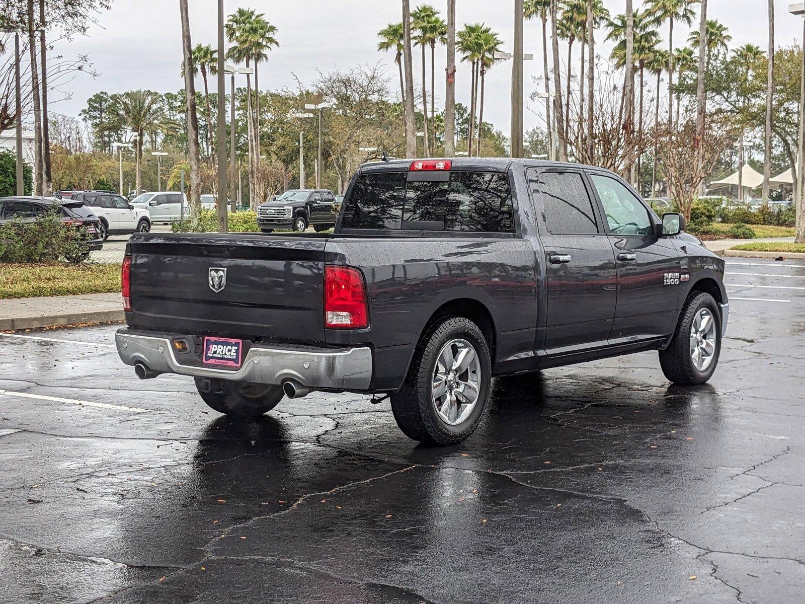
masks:
[[[342,228],[514,233],[506,174],[455,171],[447,182],[406,180],[407,172],[358,176]]]

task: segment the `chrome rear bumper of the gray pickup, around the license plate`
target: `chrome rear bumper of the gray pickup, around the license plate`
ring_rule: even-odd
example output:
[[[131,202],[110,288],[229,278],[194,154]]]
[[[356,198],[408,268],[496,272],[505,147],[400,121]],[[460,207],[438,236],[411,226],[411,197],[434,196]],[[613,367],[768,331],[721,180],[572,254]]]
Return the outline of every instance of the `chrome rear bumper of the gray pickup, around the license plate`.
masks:
[[[295,379],[306,387],[368,390],[372,381],[372,351],[359,348],[316,348],[287,345],[252,345],[238,370],[180,363],[171,338],[180,334],[134,333],[118,329],[114,340],[126,365],[144,363],[159,373],[230,379],[238,382],[282,384]]]

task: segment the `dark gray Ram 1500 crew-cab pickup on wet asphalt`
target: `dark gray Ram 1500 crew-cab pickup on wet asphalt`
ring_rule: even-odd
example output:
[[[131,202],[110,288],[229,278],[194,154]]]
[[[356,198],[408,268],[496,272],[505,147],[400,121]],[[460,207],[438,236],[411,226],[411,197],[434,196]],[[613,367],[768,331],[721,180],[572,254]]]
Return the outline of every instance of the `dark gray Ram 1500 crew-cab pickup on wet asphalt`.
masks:
[[[527,159],[367,163],[333,234],[135,234],[118,352],[192,375],[213,409],[389,393],[399,427],[449,445],[494,376],[659,350],[706,382],[724,262],[613,173]]]

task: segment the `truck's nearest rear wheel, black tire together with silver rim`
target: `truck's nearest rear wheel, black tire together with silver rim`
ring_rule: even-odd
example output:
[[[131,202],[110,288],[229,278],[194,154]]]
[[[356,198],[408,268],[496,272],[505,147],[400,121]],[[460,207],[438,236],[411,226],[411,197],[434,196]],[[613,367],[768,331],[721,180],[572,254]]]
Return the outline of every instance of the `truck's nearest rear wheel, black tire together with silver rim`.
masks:
[[[492,382],[489,345],[464,316],[431,325],[415,352],[403,388],[391,395],[394,420],[427,445],[455,445],[481,421]]]

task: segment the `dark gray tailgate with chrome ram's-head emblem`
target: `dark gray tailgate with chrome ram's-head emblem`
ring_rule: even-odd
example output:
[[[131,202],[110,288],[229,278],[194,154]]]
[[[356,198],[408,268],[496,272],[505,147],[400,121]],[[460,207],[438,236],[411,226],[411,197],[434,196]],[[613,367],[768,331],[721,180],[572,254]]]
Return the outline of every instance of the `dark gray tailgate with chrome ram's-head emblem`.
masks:
[[[135,329],[324,341],[325,243],[254,234],[135,235],[126,320]]]

